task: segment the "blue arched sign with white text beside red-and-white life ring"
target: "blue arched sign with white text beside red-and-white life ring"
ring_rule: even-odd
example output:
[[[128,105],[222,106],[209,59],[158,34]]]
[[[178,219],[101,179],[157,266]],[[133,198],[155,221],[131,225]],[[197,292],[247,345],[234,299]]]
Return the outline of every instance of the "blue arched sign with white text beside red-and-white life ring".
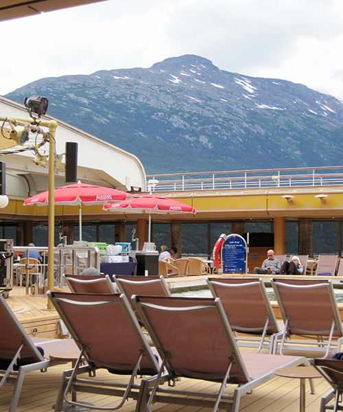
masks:
[[[246,273],[247,245],[239,235],[229,235],[222,247],[223,273]]]

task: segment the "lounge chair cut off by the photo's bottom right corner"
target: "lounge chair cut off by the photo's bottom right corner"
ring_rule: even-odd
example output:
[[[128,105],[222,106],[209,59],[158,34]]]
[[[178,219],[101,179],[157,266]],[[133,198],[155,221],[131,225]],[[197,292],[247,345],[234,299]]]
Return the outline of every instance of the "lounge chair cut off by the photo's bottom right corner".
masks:
[[[322,396],[320,412],[325,412],[327,409],[333,412],[342,411],[343,407],[339,403],[342,403],[343,393],[343,361],[336,359],[314,359],[314,367],[332,387]],[[335,402],[331,404],[333,398]]]

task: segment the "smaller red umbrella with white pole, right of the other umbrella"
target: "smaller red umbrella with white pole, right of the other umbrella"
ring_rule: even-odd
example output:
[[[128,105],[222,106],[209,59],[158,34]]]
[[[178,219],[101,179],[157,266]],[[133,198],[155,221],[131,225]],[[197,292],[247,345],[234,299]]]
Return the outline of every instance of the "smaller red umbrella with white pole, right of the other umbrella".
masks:
[[[104,210],[123,211],[125,213],[148,213],[149,214],[149,242],[151,232],[151,214],[196,214],[193,206],[186,205],[171,198],[145,194],[142,196],[133,196],[127,201],[121,203],[106,203]]]

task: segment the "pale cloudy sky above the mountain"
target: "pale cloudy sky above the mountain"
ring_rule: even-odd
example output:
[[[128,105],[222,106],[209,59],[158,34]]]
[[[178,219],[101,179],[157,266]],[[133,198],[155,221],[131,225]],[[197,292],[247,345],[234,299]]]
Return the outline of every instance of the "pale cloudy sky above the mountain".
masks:
[[[0,38],[0,95],[40,78],[197,54],[343,99],[342,0],[108,0],[1,22]]]

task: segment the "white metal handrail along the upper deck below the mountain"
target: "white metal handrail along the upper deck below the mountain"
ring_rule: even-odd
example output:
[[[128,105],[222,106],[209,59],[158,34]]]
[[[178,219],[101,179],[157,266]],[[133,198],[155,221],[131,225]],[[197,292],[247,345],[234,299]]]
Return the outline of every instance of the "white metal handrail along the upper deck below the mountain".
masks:
[[[148,192],[323,185],[343,185],[343,166],[147,175]]]

